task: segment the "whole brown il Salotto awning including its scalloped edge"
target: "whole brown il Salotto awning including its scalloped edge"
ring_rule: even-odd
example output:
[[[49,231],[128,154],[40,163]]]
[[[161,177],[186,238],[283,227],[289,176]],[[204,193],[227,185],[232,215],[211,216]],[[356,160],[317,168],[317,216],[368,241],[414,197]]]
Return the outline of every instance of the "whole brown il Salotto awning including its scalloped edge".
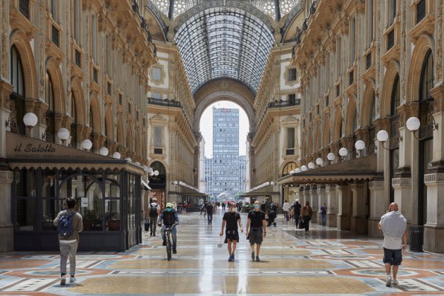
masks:
[[[6,132],[6,163],[11,169],[49,168],[73,171],[121,171],[143,175],[142,166],[73,147]]]

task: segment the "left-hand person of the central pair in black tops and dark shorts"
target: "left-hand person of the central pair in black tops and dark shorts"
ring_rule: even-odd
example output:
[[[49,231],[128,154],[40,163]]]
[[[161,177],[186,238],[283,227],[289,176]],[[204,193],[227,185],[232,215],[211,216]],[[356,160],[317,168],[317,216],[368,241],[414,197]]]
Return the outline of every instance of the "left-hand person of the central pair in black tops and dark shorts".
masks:
[[[238,224],[240,226],[240,232],[244,232],[244,228],[242,228],[242,221],[240,221],[240,214],[236,211],[236,204],[233,202],[230,204],[230,211],[227,211],[223,214],[222,220],[222,230],[221,236],[223,235],[223,228],[227,225],[225,231],[225,242],[228,243],[228,261],[234,261],[235,259],[235,251],[236,244],[239,241],[239,233],[238,233]],[[231,247],[231,243],[233,242],[233,248]]]

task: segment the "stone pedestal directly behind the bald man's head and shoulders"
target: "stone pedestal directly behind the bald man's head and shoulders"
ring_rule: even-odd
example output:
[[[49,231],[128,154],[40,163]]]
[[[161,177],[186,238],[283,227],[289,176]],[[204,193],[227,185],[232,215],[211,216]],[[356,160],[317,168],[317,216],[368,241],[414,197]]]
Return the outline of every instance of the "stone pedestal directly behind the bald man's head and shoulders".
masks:
[[[417,201],[412,197],[412,178],[393,178],[392,186],[395,190],[395,202],[400,212],[407,219],[407,223],[414,224],[413,209],[417,209]],[[385,208],[388,209],[388,202],[384,202]]]

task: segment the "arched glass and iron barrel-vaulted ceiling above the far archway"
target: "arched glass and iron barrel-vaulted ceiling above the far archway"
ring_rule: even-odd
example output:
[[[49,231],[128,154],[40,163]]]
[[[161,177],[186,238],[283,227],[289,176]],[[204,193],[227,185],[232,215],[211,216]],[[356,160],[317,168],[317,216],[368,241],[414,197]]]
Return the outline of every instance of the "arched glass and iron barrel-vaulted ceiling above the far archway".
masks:
[[[233,78],[257,92],[274,38],[251,13],[234,7],[200,11],[175,35],[192,92],[215,78]]]

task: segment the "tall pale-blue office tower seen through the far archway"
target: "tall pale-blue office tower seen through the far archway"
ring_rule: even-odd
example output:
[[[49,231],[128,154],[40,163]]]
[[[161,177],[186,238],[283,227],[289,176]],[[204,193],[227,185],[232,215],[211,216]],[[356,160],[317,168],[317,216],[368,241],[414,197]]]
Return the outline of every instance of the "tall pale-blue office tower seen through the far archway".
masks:
[[[239,172],[239,110],[213,109],[212,192],[235,195],[240,191]]]

